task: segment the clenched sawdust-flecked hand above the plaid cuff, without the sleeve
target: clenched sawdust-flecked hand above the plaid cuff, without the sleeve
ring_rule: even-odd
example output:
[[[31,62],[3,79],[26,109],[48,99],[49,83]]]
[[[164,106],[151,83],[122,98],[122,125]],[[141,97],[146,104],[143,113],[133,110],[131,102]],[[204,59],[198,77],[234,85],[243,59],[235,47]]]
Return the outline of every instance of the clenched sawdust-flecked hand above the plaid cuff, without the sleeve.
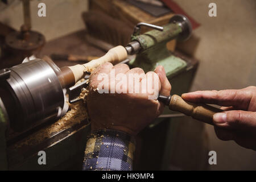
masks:
[[[155,72],[144,73],[141,68],[129,69],[126,64],[117,64],[113,66],[111,63],[105,63],[98,67],[90,76],[90,92],[87,97],[88,113],[91,119],[92,131],[100,129],[113,129],[123,131],[130,135],[136,135],[144,127],[150,124],[163,111],[164,105],[158,100],[149,100],[148,96],[152,93],[130,93],[128,92],[131,85],[127,84],[127,93],[98,93],[98,85],[101,80],[98,76],[106,73],[110,78],[110,72],[115,71],[115,75],[123,73],[138,73],[140,76],[140,85],[142,80],[148,81],[148,77],[156,77],[159,84],[154,87],[160,90],[160,94],[170,95],[171,85],[166,78],[164,68],[159,66]],[[115,85],[120,84],[123,80],[114,81]],[[123,82],[123,84],[125,84]],[[104,89],[106,89],[104,87]],[[117,90],[120,91],[120,90]]]

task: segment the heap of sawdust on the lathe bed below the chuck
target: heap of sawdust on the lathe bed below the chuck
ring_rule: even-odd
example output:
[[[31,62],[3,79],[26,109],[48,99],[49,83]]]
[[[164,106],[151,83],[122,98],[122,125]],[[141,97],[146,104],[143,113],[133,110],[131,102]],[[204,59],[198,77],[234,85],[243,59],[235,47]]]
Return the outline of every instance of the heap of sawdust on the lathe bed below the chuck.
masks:
[[[16,143],[14,147],[20,148],[23,146],[34,146],[59,133],[60,131],[68,129],[78,123],[81,123],[82,121],[88,120],[88,111],[86,107],[86,96],[88,95],[88,92],[88,89],[82,89],[79,96],[82,98],[82,100],[76,102],[75,104],[69,104],[71,110],[69,110],[64,117],[60,118],[55,123],[52,123],[52,125],[44,127],[43,129],[23,139],[21,142]]]

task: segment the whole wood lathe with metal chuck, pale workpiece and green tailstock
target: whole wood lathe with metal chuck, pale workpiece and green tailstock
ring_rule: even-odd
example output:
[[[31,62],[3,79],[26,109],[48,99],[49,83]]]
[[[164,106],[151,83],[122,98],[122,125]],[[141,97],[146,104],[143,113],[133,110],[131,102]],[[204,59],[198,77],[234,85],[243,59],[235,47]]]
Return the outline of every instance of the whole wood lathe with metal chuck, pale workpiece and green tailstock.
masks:
[[[154,30],[141,34],[141,26]],[[81,100],[78,96],[88,82],[86,80],[80,82],[80,80],[88,78],[92,69],[98,65],[106,62],[117,64],[127,59],[127,55],[136,54],[136,58],[128,63],[130,68],[140,67],[144,72],[148,72],[153,71],[157,65],[163,65],[167,78],[169,80],[172,78],[172,85],[176,84],[174,77],[180,73],[188,75],[180,74],[186,78],[180,78],[183,82],[192,79],[195,69],[191,69],[192,65],[189,65],[191,63],[166,48],[166,43],[170,40],[189,38],[191,31],[189,20],[185,16],[175,15],[170,23],[163,27],[147,23],[137,24],[131,42],[126,47],[118,46],[110,49],[105,56],[86,64],[59,68],[46,58],[2,69],[0,71],[0,134],[2,135],[0,144],[4,147],[0,150],[3,166],[1,168],[59,169],[66,160],[73,161],[75,156],[84,153],[84,141],[89,133],[88,122],[84,121],[86,114],[80,113],[82,119],[71,118],[64,122],[57,119],[63,116],[65,118],[72,112],[76,113],[75,110],[68,111],[65,89],[69,91],[70,103]],[[78,81],[79,83],[76,84]],[[176,88],[179,87],[174,86],[173,90]],[[180,93],[187,90],[182,86],[179,89]],[[10,130],[15,132],[9,134]],[[42,150],[47,152],[48,158],[54,158],[47,166],[39,166],[37,162],[38,151]],[[65,152],[57,156],[56,151]],[[77,160],[81,162],[80,159]]]

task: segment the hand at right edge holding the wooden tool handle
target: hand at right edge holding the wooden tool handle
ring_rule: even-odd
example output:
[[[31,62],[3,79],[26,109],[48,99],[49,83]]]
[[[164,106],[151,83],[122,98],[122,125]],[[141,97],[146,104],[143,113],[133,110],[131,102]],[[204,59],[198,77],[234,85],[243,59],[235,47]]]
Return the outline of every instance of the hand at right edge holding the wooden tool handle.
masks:
[[[224,106],[221,107],[224,112],[213,115],[217,137],[256,150],[256,86],[241,90],[197,91],[182,97],[191,102]]]

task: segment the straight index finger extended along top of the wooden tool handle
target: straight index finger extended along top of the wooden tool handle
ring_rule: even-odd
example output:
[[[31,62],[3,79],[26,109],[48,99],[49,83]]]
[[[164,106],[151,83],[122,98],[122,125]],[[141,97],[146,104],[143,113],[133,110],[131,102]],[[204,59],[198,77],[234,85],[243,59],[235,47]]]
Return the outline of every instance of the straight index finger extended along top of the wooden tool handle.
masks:
[[[247,109],[251,94],[245,92],[245,90],[208,90],[185,93],[181,97],[191,102],[203,102],[221,106],[240,106],[241,109]]]

